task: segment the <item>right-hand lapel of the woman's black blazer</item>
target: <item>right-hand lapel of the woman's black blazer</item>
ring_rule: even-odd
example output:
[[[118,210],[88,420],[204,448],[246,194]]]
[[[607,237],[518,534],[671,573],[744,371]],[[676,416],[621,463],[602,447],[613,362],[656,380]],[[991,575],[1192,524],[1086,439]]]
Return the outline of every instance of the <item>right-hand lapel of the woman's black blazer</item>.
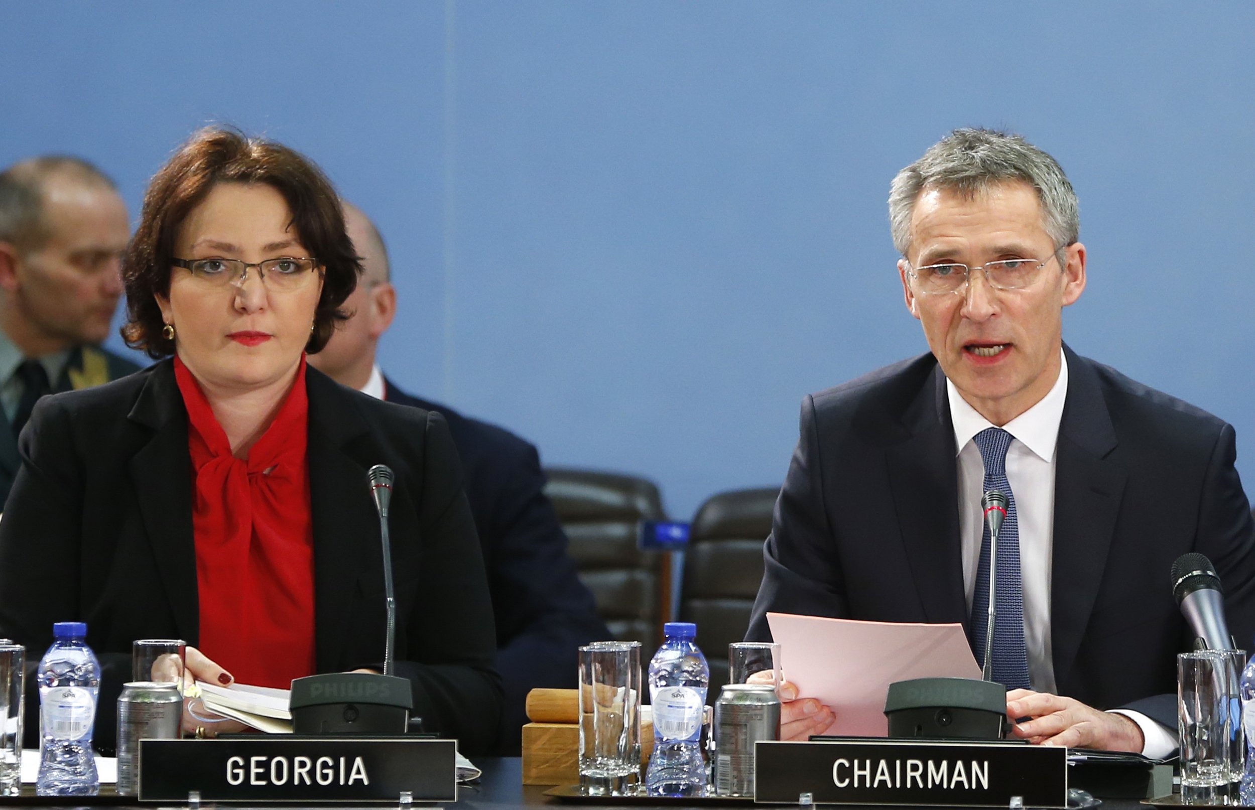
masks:
[[[340,668],[349,642],[358,578],[378,517],[366,493],[366,465],[345,446],[366,431],[346,390],[306,369],[310,503],[314,522],[315,651],[320,672]]]

